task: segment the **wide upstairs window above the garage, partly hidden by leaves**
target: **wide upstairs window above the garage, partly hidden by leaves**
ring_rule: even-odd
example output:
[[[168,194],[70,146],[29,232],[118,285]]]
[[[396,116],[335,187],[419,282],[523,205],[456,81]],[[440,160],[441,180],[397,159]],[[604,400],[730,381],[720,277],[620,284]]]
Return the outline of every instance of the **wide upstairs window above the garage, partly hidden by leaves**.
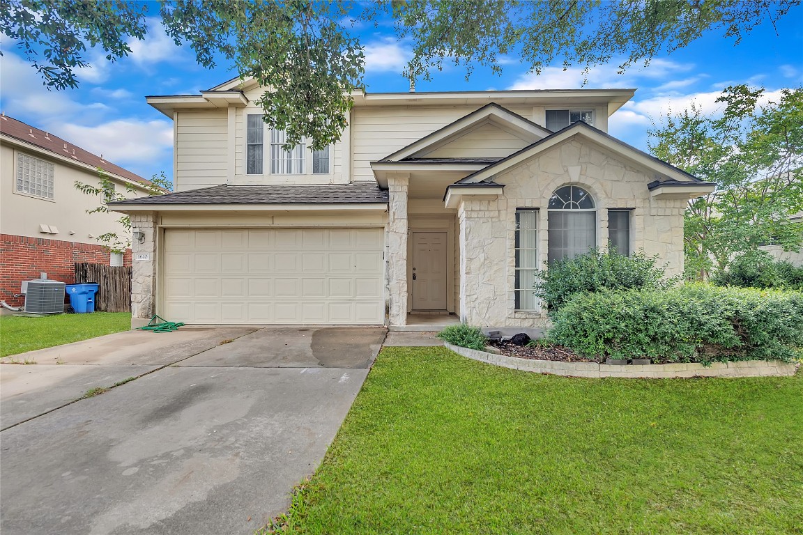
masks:
[[[261,115],[247,116],[246,133],[246,172],[249,175],[261,175],[265,172],[265,123]],[[329,147],[320,151],[310,151],[307,143],[297,144],[287,150],[287,134],[282,130],[270,131],[271,174],[304,175],[312,170],[312,174],[328,174],[332,167]]]

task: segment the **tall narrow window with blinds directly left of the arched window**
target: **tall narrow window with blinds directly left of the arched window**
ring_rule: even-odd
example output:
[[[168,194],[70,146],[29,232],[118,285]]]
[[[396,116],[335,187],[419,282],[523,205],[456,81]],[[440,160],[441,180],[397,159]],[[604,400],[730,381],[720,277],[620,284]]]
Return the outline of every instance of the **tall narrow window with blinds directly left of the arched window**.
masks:
[[[516,310],[536,310],[538,210],[516,209]]]

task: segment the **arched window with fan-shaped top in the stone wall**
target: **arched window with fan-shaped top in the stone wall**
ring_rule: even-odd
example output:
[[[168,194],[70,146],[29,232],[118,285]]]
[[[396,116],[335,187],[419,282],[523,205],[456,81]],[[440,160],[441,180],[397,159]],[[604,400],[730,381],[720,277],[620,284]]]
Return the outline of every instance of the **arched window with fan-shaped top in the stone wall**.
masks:
[[[548,260],[573,258],[597,245],[597,209],[579,186],[564,186],[549,197]]]

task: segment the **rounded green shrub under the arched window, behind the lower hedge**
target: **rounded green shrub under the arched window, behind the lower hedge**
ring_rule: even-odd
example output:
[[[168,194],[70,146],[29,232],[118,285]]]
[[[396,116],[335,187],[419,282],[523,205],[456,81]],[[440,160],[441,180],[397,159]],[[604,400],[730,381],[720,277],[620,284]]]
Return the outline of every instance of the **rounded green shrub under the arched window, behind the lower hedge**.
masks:
[[[540,270],[535,289],[549,310],[559,310],[576,294],[603,289],[660,289],[677,282],[675,278],[663,279],[663,276],[664,270],[655,267],[654,257],[648,258],[643,253],[626,257],[592,249],[570,260],[554,261],[548,270]]]

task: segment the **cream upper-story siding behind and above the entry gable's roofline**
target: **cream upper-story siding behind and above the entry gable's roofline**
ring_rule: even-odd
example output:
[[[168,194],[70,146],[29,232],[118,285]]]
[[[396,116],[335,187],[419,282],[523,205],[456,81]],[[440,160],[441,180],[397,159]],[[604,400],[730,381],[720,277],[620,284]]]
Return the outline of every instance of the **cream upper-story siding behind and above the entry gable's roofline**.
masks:
[[[453,123],[480,106],[354,107],[352,109],[352,181],[372,181],[371,162]],[[509,107],[529,118],[532,107]]]

